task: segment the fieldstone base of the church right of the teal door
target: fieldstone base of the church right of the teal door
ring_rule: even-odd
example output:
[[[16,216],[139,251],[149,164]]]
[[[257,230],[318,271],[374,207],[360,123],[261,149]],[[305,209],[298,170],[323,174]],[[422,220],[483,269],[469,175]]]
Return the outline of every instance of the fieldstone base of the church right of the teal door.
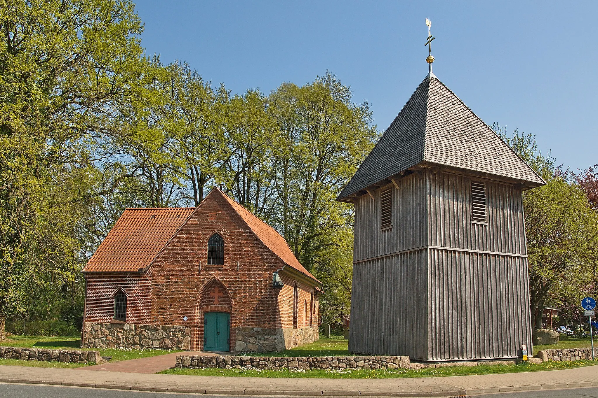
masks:
[[[269,353],[309,344],[319,338],[318,328],[236,328],[234,351]]]

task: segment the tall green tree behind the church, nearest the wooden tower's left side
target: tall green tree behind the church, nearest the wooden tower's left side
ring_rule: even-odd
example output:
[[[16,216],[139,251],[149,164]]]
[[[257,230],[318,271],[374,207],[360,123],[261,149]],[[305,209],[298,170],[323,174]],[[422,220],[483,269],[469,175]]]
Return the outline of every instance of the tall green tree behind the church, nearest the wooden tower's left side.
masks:
[[[270,94],[270,112],[282,132],[280,229],[307,269],[318,263],[319,252],[338,245],[334,231],[352,224],[351,206],[335,199],[378,137],[370,107],[352,96],[329,72]]]

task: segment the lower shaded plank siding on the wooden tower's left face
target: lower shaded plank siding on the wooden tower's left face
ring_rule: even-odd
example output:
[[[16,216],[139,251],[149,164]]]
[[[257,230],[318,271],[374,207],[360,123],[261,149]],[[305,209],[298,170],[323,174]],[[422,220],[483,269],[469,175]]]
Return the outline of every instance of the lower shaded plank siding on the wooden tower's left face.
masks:
[[[427,355],[426,250],[355,264],[349,350]]]

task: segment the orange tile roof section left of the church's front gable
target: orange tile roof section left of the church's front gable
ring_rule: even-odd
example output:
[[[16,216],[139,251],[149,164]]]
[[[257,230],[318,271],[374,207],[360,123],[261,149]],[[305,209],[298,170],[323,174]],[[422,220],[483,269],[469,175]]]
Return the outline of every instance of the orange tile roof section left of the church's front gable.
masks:
[[[126,209],[83,271],[139,271],[154,260],[195,208]]]

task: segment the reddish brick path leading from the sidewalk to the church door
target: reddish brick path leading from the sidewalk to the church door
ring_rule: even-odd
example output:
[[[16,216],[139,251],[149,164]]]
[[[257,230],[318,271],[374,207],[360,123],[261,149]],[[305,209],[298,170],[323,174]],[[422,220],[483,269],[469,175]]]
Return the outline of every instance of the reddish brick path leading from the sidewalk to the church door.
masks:
[[[209,352],[190,352],[185,355],[222,355]],[[125,373],[142,373],[154,374],[164,371],[168,368],[174,368],[176,363],[176,356],[181,353],[171,353],[156,355],[147,358],[136,358],[129,360],[121,360],[118,362],[108,362],[102,365],[91,365],[80,368],[82,371],[108,371],[108,372],[125,372]]]

